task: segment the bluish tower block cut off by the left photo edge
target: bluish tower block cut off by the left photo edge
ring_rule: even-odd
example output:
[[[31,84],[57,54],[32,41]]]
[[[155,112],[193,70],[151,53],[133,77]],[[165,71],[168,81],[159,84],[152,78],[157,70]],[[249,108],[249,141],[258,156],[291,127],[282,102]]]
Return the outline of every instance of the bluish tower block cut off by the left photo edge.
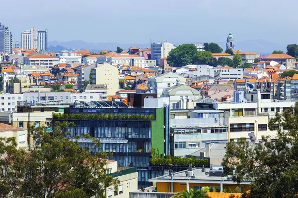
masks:
[[[12,34],[8,27],[0,23],[0,52],[11,53]]]

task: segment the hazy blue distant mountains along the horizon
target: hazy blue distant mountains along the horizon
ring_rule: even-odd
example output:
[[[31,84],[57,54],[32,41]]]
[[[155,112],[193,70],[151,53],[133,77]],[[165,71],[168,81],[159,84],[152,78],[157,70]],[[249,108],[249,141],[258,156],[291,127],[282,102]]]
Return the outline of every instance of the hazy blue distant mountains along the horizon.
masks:
[[[204,42],[188,42],[193,44],[203,44]],[[215,42],[218,43],[225,50],[224,42]],[[174,43],[175,45],[180,45],[182,43]],[[139,48],[150,48],[150,43],[147,44],[119,44],[119,43],[89,43],[84,41],[50,41],[48,44],[49,50],[51,51],[60,51],[62,49],[74,50],[90,50],[92,52],[98,52],[101,50],[115,51],[119,46],[122,49],[127,50],[128,48],[135,46]],[[236,49],[240,49],[246,52],[259,52],[261,54],[270,54],[273,50],[283,50],[287,51],[287,44],[278,44],[272,43],[265,40],[248,40],[248,41],[239,41],[235,42]]]

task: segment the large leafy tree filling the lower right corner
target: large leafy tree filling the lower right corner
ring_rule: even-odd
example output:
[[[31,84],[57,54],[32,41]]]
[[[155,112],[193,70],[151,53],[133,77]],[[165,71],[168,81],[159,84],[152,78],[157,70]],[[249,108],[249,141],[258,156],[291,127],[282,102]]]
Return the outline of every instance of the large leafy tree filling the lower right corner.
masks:
[[[222,163],[224,172],[232,175],[237,183],[251,181],[251,198],[295,198],[298,195],[298,102],[277,112],[268,126],[271,131],[277,129],[277,133],[262,136],[262,143],[255,146],[246,138],[227,143]]]

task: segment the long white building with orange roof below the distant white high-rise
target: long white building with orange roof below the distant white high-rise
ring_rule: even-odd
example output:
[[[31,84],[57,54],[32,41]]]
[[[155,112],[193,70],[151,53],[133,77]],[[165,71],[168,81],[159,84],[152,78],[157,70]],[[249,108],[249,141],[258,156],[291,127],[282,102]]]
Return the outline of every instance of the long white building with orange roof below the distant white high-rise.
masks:
[[[32,54],[24,57],[25,65],[39,65],[51,69],[59,63],[59,58],[49,55]]]

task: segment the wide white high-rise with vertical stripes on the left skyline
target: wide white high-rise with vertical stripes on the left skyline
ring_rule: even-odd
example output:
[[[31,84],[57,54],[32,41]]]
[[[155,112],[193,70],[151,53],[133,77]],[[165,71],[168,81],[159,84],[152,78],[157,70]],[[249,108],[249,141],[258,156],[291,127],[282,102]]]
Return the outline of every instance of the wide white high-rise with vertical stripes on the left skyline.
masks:
[[[22,32],[22,48],[48,50],[48,30],[31,28]]]

